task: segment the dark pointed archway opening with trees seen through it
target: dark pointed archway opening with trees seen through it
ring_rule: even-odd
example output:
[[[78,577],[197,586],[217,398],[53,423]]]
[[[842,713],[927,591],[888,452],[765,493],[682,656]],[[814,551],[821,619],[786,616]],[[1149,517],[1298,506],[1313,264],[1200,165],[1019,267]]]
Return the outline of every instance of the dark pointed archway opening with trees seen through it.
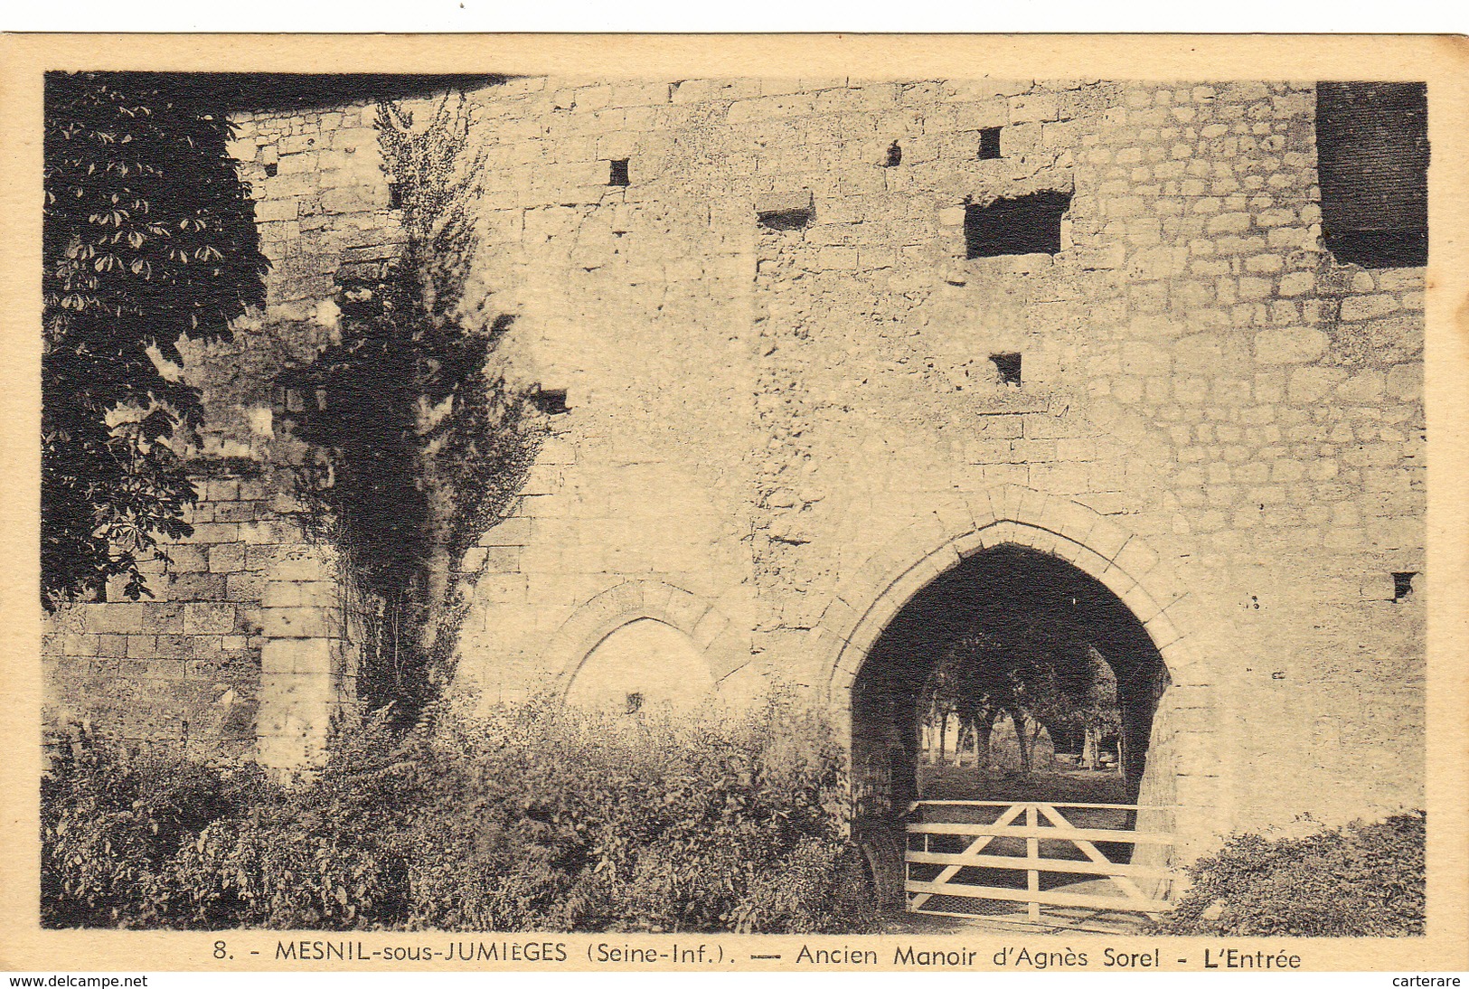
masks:
[[[852,683],[859,827],[900,839],[915,799],[1143,802],[1161,792],[1144,779],[1166,686],[1141,622],[1096,578],[1022,545],[970,555],[889,620]]]

